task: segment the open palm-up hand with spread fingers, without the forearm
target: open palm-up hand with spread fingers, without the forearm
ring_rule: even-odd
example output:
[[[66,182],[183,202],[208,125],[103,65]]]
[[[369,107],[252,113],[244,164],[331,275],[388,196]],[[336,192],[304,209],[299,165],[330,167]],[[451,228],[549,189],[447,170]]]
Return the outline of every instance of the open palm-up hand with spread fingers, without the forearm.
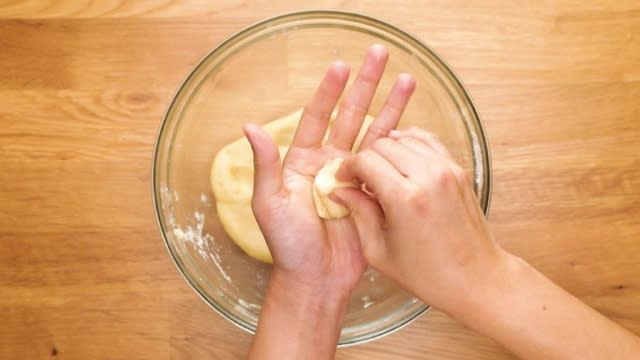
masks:
[[[269,244],[274,266],[302,277],[303,281],[321,281],[352,289],[366,268],[360,251],[361,239],[352,219],[318,217],[312,188],[315,175],[327,160],[350,156],[387,57],[383,47],[373,46],[369,50],[326,145],[323,139],[329,115],[349,77],[343,63],[329,69],[305,107],[282,165],[278,150],[266,133],[259,128],[245,128],[256,162],[254,214]],[[414,86],[411,77],[398,78],[360,148],[366,148],[395,128]]]

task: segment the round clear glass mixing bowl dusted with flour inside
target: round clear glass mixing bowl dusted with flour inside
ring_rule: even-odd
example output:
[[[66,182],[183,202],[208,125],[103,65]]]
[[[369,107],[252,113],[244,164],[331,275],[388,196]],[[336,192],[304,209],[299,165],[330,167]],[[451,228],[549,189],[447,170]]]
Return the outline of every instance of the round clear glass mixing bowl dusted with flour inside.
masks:
[[[245,255],[222,228],[209,185],[212,160],[242,136],[244,123],[266,123],[303,107],[333,61],[350,64],[353,79],[374,43],[386,45],[390,57],[370,113],[380,110],[399,73],[413,74],[416,91],[399,128],[438,134],[488,210],[491,168],[480,119],[433,50],[392,25],[337,11],[285,14],[240,31],[200,61],[171,102],[154,150],[153,196],[179,271],[213,309],[249,332],[256,328],[270,266]],[[353,292],[339,344],[388,334],[427,309],[369,269]]]

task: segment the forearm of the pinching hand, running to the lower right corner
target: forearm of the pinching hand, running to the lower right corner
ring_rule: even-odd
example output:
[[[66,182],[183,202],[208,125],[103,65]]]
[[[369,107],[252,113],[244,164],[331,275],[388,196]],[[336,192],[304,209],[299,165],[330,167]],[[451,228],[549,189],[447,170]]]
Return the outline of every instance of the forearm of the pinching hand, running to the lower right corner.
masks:
[[[505,255],[471,285],[465,306],[452,316],[527,359],[640,357],[640,340],[545,278]],[[490,284],[490,285],[487,285]]]

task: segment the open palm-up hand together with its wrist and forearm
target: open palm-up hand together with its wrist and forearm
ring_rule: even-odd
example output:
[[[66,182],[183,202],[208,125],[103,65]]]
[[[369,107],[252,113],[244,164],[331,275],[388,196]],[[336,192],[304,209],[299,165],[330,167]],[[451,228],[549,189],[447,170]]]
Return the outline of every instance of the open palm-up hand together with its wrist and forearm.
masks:
[[[351,219],[323,220],[317,215],[313,179],[327,160],[352,156],[388,54],[380,45],[369,49],[326,145],[322,140],[329,118],[349,77],[349,68],[341,62],[329,68],[305,107],[282,165],[264,131],[256,125],[244,128],[255,161],[253,212],[273,257],[250,359],[333,357],[349,295],[367,264]],[[360,149],[396,127],[414,88],[411,76],[398,77]]]

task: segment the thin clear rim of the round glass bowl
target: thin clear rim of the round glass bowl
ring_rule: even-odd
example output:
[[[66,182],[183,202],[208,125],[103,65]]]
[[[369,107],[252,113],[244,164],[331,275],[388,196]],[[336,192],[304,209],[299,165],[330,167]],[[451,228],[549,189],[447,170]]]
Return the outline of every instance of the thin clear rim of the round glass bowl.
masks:
[[[159,198],[160,186],[159,184],[157,184],[158,176],[156,175],[156,173],[157,173],[158,166],[156,164],[159,158],[158,153],[159,153],[160,140],[163,134],[166,132],[168,117],[172,113],[172,110],[174,110],[176,106],[176,102],[179,98],[179,95],[183,92],[187,84],[191,81],[192,77],[195,76],[197,70],[210,57],[215,56],[217,53],[223,51],[223,49],[226,46],[233,44],[235,41],[243,38],[246,35],[250,35],[253,32],[259,31],[261,27],[269,23],[277,22],[278,24],[280,24],[281,22],[286,22],[286,20],[296,20],[299,18],[313,18],[313,19],[339,18],[342,20],[352,21],[354,23],[359,23],[359,24],[365,24],[365,23],[373,24],[377,28],[382,29],[384,31],[395,32],[396,35],[402,36],[405,40],[410,41],[412,45],[416,46],[417,48],[422,48],[423,51],[431,55],[431,58],[435,62],[439,63],[439,65],[442,67],[442,70],[444,70],[445,73],[449,74],[449,78],[454,83],[454,85],[460,88],[459,95],[463,97],[463,100],[466,101],[468,108],[471,110],[472,112],[471,118],[477,120],[477,121],[474,121],[476,125],[476,128],[474,130],[477,133],[477,137],[478,137],[477,141],[480,143],[480,147],[482,149],[481,154],[482,154],[482,164],[484,169],[484,174],[482,175],[483,183],[484,183],[483,194],[479,194],[482,196],[480,206],[486,217],[489,216],[489,209],[491,205],[491,195],[493,192],[492,191],[493,171],[492,171],[492,164],[491,164],[491,152],[489,148],[489,141],[487,140],[487,133],[486,133],[482,118],[478,113],[478,110],[469,94],[469,91],[464,86],[464,84],[462,83],[458,75],[455,73],[453,68],[440,55],[438,55],[434,49],[432,49],[429,45],[422,42],[418,37],[413,36],[411,33],[405,30],[402,30],[401,28],[387,21],[384,21],[369,15],[364,15],[359,12],[334,10],[334,9],[309,9],[309,10],[285,12],[285,13],[266,17],[262,20],[253,22],[250,25],[242,28],[241,30],[232,33],[231,35],[227,36],[222,41],[220,41],[218,44],[216,44],[211,50],[209,50],[204,56],[202,56],[194,66],[192,66],[187,76],[180,82],[179,86],[177,87],[177,90],[174,92],[173,96],[171,97],[171,101],[169,102],[169,105],[167,106],[164,114],[162,115],[162,121],[156,132],[155,142],[153,146],[153,157],[152,157],[152,164],[151,164],[152,165],[151,166],[151,191],[152,191],[153,211],[154,211],[154,217],[156,220],[156,225],[158,226],[165,248],[167,249],[171,257],[174,266],[177,268],[178,273],[187,282],[187,284],[189,284],[189,286],[200,297],[200,299],[202,299],[202,301],[208,304],[210,308],[212,308],[215,312],[217,312],[220,316],[228,320],[230,323],[234,324],[240,329],[247,331],[250,334],[255,333],[255,329],[250,324],[238,318],[237,316],[234,316],[233,314],[228,313],[224,308],[222,308],[222,306],[217,304],[215,301],[210,301],[210,299],[208,299],[203,294],[203,292],[199,289],[199,286],[189,276],[187,276],[186,271],[184,269],[184,264],[179,259],[179,255],[175,253],[175,250],[170,245],[170,242],[166,236],[163,219],[161,219],[161,209],[159,208],[161,203],[161,199]],[[413,322],[415,319],[420,317],[422,314],[428,312],[431,309],[431,306],[424,304],[419,300],[418,300],[418,303],[421,304],[418,307],[418,309],[410,313],[405,318],[401,319],[401,321],[397,321],[391,325],[386,325],[382,327],[380,330],[373,331],[365,335],[359,335],[349,339],[340,339],[337,344],[338,347],[348,347],[348,346],[368,343],[404,328],[405,326]]]

